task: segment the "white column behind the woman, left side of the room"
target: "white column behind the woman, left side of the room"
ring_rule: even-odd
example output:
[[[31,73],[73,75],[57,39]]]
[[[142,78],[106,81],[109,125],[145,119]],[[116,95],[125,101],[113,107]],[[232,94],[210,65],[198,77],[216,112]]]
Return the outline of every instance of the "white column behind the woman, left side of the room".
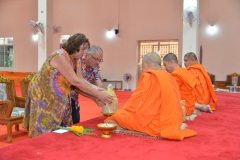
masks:
[[[38,0],[38,22],[43,23],[43,32],[38,32],[38,70],[52,52],[53,23],[52,0]]]

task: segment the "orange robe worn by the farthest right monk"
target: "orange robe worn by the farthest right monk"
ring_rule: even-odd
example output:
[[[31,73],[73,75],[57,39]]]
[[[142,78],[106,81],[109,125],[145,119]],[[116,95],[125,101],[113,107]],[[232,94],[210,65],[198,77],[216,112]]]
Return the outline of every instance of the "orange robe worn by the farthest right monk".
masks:
[[[211,79],[201,64],[194,64],[187,67],[187,70],[197,78],[195,88],[196,102],[199,104],[210,104],[212,110],[216,110],[218,99],[213,89]]]

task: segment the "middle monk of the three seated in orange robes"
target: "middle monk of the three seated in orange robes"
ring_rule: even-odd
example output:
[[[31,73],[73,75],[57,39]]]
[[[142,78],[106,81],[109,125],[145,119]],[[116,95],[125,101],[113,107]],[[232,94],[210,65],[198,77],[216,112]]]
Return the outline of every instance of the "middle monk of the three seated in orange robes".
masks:
[[[186,70],[186,68],[180,67],[177,56],[174,53],[168,53],[164,56],[163,65],[178,84],[181,99],[185,100],[184,106],[186,107],[187,116],[191,116],[195,108],[201,111],[212,112],[210,106],[196,103],[195,88],[197,79],[191,72]]]

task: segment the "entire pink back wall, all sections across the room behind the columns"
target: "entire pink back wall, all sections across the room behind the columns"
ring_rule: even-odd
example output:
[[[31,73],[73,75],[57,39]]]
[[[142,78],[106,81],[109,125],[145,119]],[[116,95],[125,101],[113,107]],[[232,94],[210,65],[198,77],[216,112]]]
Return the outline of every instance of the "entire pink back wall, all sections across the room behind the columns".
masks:
[[[183,1],[119,0],[119,3],[118,15],[117,0],[53,0],[53,24],[62,27],[60,33],[53,35],[53,50],[59,47],[60,35],[82,32],[104,50],[102,78],[122,80],[123,74],[129,72],[133,75],[134,89],[138,40],[179,39],[181,45]],[[200,0],[199,46],[203,45],[203,65],[218,81],[225,81],[229,73],[240,73],[239,15],[239,0]],[[37,20],[37,0],[0,0],[0,37],[14,37],[13,71],[37,70],[37,43],[31,41],[30,20]],[[204,32],[210,20],[221,26],[215,37]],[[105,31],[117,27],[118,21],[120,36],[107,40]]]

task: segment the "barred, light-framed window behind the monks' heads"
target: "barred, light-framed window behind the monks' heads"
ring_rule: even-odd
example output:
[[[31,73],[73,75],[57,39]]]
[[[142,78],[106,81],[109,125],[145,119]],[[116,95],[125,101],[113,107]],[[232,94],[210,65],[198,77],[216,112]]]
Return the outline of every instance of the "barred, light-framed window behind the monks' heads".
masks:
[[[174,53],[178,57],[178,40],[139,41],[138,46],[138,77],[142,73],[142,59],[147,53],[157,53],[161,57],[161,60],[168,53]]]

